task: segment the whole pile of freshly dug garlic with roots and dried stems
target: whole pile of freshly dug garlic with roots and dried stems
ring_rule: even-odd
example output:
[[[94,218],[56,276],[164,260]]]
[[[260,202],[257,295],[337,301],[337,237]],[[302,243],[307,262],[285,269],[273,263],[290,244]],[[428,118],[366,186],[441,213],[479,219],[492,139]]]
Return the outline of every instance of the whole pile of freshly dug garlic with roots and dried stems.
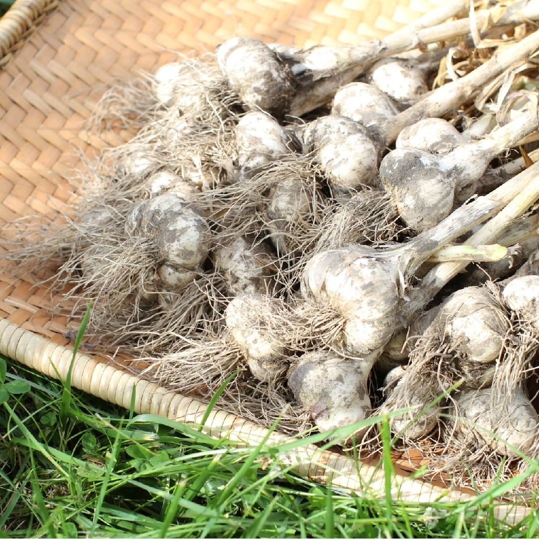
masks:
[[[64,224],[8,227],[6,256],[54,260],[73,316],[91,299],[89,331],[169,388],[229,379],[224,409],[372,451],[364,420],[388,412],[432,469],[488,481],[488,447],[509,474],[539,452],[538,278],[513,277],[537,257],[539,32],[511,2],[476,17],[488,49],[465,18],[357,46],[238,37],[113,88],[91,126],[132,140],[78,171]]]

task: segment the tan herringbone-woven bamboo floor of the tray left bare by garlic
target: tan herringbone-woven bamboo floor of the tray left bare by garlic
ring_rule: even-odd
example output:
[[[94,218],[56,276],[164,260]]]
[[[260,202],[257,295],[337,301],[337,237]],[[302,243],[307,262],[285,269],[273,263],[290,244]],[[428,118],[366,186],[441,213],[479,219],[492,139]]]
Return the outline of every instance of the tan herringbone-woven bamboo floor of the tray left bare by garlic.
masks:
[[[153,72],[175,51],[213,51],[233,36],[306,47],[379,38],[432,0],[17,0],[0,23],[0,226],[57,213],[63,178],[91,153],[83,126],[115,79]],[[5,268],[4,268],[5,269]],[[0,317],[66,344],[56,299],[0,274]]]

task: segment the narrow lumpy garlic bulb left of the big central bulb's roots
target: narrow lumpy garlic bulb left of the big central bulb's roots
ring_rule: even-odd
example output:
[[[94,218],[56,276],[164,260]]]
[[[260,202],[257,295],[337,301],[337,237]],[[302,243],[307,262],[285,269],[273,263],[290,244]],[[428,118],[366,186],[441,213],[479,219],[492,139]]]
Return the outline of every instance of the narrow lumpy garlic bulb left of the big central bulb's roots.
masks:
[[[261,294],[241,294],[226,307],[226,327],[243,351],[251,374],[269,382],[285,369],[285,346],[268,331],[280,303]]]

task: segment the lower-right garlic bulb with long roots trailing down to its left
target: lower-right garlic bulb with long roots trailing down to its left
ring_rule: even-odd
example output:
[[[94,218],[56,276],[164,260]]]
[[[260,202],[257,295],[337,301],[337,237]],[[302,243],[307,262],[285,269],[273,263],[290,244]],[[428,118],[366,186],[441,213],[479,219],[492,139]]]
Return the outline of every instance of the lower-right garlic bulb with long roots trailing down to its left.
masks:
[[[424,439],[441,425],[444,401],[430,405],[455,382],[461,381],[448,400],[460,391],[492,384],[510,328],[505,309],[486,288],[460,289],[432,310],[436,315],[411,349],[409,362],[396,371],[402,376],[393,373],[385,384],[381,409],[398,412],[391,418],[391,431],[403,431],[405,440]],[[414,409],[401,412],[407,407]]]

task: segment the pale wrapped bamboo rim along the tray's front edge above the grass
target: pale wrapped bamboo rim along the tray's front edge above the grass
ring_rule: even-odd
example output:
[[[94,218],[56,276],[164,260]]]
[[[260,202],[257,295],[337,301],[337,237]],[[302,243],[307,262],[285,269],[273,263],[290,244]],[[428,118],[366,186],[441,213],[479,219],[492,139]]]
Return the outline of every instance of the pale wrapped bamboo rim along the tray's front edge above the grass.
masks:
[[[157,413],[162,417],[195,425],[201,423],[206,413],[206,405],[202,402],[142,380],[112,365],[100,363],[84,354],[77,353],[73,357],[72,350],[5,319],[0,319],[0,354],[61,380],[65,380],[73,361],[71,384],[74,388],[128,409],[134,389],[136,413]],[[212,438],[233,440],[238,446],[257,445],[266,437],[267,443],[275,446],[291,441],[284,434],[268,434],[264,427],[218,409],[210,412],[202,432]],[[381,498],[385,495],[383,469],[357,462],[345,455],[305,444],[281,452],[279,457],[295,473],[318,483],[353,490],[358,495],[365,492]],[[416,503],[434,500],[471,502],[474,499],[473,495],[457,489],[441,488],[401,475],[392,477],[391,496],[395,500]],[[530,511],[527,506],[509,503],[494,506],[494,516],[511,524],[521,522]]]

